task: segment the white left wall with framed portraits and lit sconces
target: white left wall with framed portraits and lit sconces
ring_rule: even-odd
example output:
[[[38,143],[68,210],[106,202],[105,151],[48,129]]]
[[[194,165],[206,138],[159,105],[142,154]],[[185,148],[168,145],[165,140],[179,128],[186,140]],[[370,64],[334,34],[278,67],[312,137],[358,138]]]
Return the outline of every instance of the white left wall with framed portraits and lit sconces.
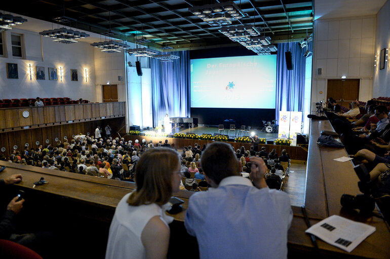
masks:
[[[24,59],[12,57],[11,33],[22,35]],[[85,42],[59,44],[37,32],[18,29],[3,32],[5,56],[0,57],[0,98],[69,97],[96,102],[93,48]],[[18,64],[18,79],[7,78],[6,63]],[[31,80],[29,76],[31,64]],[[35,66],[45,67],[45,80],[36,80]],[[57,68],[58,80],[49,80],[48,67]],[[63,79],[60,80],[60,67]],[[78,81],[70,80],[70,69],[77,69]],[[85,69],[88,69],[87,81]]]

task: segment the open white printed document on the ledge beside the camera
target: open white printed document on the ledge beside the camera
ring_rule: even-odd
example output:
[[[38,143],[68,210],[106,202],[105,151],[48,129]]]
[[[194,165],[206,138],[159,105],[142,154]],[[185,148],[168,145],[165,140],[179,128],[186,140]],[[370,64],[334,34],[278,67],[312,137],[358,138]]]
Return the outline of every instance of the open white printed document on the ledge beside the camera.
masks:
[[[344,251],[351,252],[375,230],[374,227],[367,224],[332,215],[311,226],[305,232],[313,234]]]

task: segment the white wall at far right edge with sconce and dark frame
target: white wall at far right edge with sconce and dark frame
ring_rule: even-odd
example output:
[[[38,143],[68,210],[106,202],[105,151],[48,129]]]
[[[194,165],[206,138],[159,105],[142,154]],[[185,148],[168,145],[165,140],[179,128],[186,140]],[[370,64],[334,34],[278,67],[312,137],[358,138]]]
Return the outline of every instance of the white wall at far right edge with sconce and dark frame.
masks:
[[[379,10],[376,18],[375,53],[390,47],[390,1]],[[372,86],[372,97],[390,96],[390,66],[388,61],[384,64],[384,69],[379,69],[378,65],[374,69],[374,80]]]

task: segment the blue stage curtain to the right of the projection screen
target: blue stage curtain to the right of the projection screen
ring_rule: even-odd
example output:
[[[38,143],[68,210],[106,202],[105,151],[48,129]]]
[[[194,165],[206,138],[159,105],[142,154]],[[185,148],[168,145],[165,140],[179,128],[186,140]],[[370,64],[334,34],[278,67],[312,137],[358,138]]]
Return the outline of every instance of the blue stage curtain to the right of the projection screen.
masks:
[[[285,52],[290,51],[293,70],[287,70]],[[279,124],[279,111],[303,111],[305,87],[306,48],[298,42],[278,44],[276,72],[276,109],[275,118]]]

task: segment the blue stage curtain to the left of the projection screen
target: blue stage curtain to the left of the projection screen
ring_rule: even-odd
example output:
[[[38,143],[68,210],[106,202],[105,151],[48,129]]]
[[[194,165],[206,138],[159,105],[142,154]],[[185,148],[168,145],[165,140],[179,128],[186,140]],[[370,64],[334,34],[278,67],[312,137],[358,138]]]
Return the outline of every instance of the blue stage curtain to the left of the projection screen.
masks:
[[[151,59],[153,126],[169,117],[190,116],[189,52],[169,52],[179,56],[173,62]]]

